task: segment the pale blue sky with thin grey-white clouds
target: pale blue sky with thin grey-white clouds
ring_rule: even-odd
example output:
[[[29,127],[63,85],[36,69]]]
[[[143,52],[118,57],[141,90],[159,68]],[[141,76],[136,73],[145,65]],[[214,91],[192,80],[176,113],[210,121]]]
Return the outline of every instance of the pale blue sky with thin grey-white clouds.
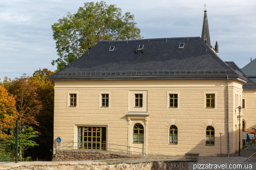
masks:
[[[32,75],[39,68],[56,70],[51,26],[85,2],[77,0],[0,1],[0,79]],[[99,2],[99,1],[93,1]],[[256,58],[256,1],[247,0],[105,0],[135,16],[144,38],[201,37],[206,4],[211,45],[216,40],[223,61],[240,68]]]

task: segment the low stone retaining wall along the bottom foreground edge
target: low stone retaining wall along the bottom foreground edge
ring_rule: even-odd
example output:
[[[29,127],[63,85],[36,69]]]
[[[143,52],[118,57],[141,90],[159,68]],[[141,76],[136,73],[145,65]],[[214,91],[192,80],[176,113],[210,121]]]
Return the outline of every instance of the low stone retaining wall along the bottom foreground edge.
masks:
[[[188,169],[188,162],[195,162],[195,160],[170,160],[162,162],[18,162],[1,163],[0,170],[185,170]]]

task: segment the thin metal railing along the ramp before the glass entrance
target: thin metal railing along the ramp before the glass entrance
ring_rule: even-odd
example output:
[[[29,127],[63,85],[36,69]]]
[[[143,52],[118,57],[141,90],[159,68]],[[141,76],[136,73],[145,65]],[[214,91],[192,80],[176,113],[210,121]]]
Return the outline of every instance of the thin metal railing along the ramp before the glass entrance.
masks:
[[[65,145],[65,143],[67,143],[67,145]],[[72,143],[72,145],[68,145],[68,143]],[[77,146],[75,146],[74,143],[77,143]],[[64,148],[74,148],[77,150],[99,150],[99,151],[109,151],[109,152],[111,152],[111,150],[117,150],[117,151],[125,151],[127,154],[139,153],[139,154],[142,154],[143,157],[146,154],[146,150],[144,148],[129,147],[126,145],[112,144],[112,143],[65,141],[62,144],[63,144],[62,150],[64,150]],[[93,144],[95,144],[95,146],[93,146]],[[97,144],[99,144],[99,145],[97,145]],[[86,145],[86,146],[84,146],[84,145]],[[126,147],[126,150],[116,149],[115,148],[116,146]],[[131,151],[130,150],[131,148],[141,149],[142,152]]]

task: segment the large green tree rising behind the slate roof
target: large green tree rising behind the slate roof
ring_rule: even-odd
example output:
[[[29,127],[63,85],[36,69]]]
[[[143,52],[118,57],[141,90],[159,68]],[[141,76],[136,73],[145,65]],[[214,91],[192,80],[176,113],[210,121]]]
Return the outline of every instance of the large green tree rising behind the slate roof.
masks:
[[[70,14],[52,25],[53,38],[59,58],[52,60],[57,70],[67,66],[101,40],[129,40],[143,38],[136,27],[134,15],[121,14],[116,5],[105,2],[84,3],[76,14]]]

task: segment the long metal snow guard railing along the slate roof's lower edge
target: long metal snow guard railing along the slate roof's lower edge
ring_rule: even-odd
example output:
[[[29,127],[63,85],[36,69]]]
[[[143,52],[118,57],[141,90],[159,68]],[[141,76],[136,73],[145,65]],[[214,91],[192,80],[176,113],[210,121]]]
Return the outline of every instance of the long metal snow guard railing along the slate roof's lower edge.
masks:
[[[230,73],[230,69],[202,70],[126,70],[126,71],[59,71],[55,76],[129,76],[129,75],[219,75]]]

